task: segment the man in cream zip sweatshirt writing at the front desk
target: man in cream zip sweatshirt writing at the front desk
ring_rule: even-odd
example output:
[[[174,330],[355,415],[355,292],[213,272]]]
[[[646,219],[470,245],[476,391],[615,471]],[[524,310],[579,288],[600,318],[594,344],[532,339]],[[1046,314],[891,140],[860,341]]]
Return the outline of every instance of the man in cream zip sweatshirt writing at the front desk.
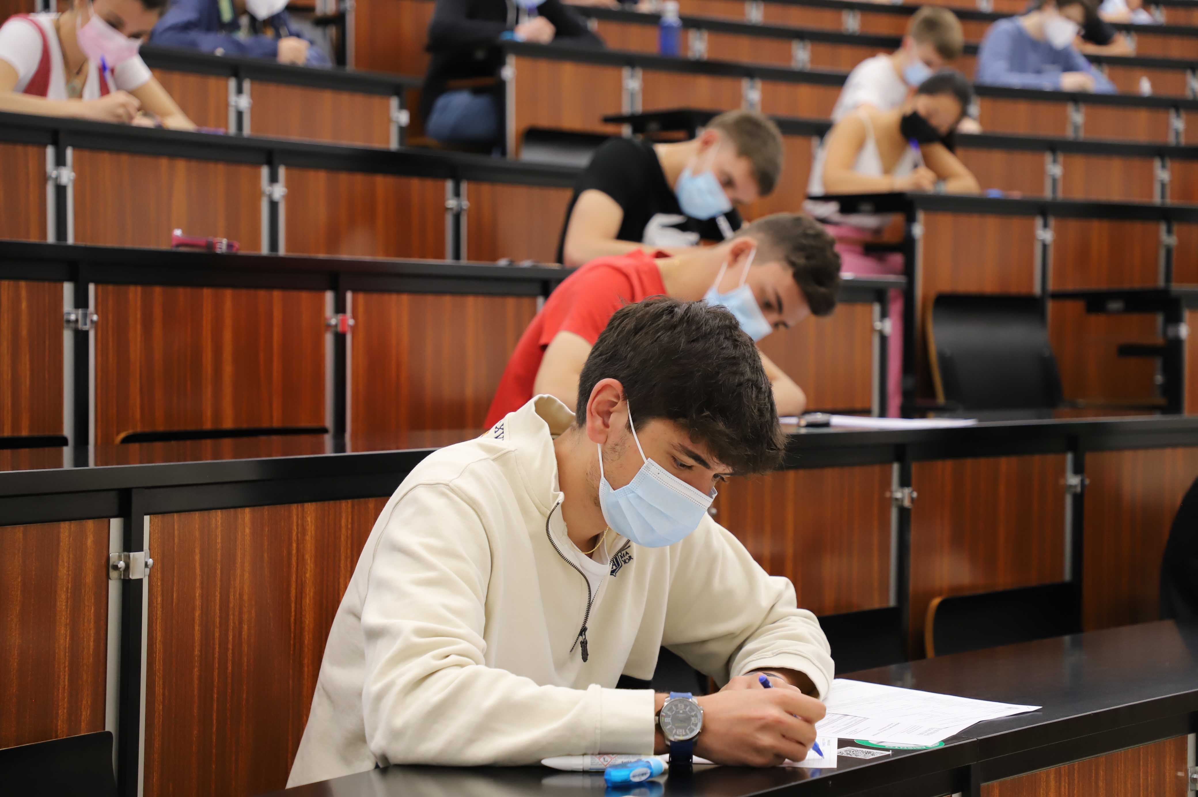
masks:
[[[389,763],[806,755],[827,638],[707,513],[727,477],[781,460],[752,340],[722,308],[630,304],[577,406],[537,397],[404,479],[333,621],[289,786]],[[724,688],[670,705],[613,688],[651,677],[662,645]]]

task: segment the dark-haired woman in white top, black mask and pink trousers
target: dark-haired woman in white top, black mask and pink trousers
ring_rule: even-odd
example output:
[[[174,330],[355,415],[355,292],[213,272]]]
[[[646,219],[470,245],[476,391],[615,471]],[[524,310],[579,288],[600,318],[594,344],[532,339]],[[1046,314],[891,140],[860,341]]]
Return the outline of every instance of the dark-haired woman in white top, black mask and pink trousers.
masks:
[[[863,108],[837,122],[824,137],[811,169],[807,194],[881,194],[933,191],[975,194],[969,169],[944,145],[973,102],[973,89],[956,70],[943,70],[921,83],[900,108]],[[809,199],[806,211],[836,239],[841,268],[861,276],[901,274],[897,252],[866,252],[890,224],[889,215],[842,215],[836,203]],[[902,400],[902,292],[890,294],[888,391],[890,415]]]

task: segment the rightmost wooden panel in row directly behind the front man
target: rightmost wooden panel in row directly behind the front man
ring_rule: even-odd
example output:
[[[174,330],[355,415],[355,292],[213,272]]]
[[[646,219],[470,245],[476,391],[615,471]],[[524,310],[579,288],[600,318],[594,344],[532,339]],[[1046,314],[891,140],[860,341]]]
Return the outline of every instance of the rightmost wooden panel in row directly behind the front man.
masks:
[[[1161,557],[1198,448],[1089,453],[1085,475],[1083,627],[1160,618]]]

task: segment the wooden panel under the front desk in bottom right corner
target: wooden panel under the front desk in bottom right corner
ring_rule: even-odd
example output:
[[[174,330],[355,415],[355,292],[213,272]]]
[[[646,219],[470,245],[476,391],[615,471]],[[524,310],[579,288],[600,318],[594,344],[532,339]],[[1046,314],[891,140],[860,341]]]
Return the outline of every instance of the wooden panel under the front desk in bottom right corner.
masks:
[[[1186,797],[1186,737],[1154,742],[1052,769],[984,784],[981,797],[1152,795]]]

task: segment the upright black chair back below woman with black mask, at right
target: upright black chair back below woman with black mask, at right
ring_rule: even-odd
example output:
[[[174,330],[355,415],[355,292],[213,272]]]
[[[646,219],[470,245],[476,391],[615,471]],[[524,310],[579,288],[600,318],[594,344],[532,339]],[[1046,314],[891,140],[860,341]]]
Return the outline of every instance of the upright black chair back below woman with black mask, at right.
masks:
[[[940,294],[927,343],[937,400],[945,409],[1061,405],[1060,373],[1035,296]]]

